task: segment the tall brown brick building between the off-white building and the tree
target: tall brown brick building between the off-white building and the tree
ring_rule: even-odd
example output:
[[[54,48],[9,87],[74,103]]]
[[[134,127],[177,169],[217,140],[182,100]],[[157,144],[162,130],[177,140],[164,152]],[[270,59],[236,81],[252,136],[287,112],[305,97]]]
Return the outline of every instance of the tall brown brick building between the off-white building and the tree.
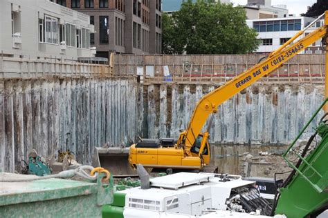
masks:
[[[161,0],[53,0],[90,16],[97,57],[161,54]]]

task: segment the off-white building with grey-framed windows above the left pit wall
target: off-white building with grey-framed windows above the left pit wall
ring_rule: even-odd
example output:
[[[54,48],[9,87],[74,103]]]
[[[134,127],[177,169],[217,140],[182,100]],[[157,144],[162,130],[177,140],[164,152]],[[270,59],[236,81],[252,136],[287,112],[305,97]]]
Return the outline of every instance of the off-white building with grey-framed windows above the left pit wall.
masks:
[[[0,1],[0,52],[9,57],[93,57],[90,17],[47,0]]]

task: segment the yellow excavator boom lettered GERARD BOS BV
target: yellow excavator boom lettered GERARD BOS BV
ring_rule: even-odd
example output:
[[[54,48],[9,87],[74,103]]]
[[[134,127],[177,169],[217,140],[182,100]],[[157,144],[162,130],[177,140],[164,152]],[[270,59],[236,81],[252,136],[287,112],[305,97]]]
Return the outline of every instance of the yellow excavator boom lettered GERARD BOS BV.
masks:
[[[326,12],[325,15],[327,19],[328,12]],[[314,22],[315,21],[313,21],[313,23]],[[313,23],[309,26],[312,26]],[[307,28],[309,28],[309,26]],[[181,132],[178,139],[177,145],[179,147],[183,147],[186,156],[191,156],[190,149],[192,148],[194,141],[197,139],[208,117],[217,112],[217,108],[221,105],[221,103],[224,103],[224,101],[230,99],[230,97],[233,97],[238,92],[244,90],[260,78],[270,74],[274,70],[277,70],[277,68],[280,68],[283,63],[289,61],[289,59],[293,58],[296,54],[300,53],[312,43],[324,37],[327,34],[327,22],[325,26],[314,30],[307,36],[299,39],[297,42],[291,43],[300,37],[304,33],[304,30],[300,30],[298,34],[295,34],[295,36],[284,43],[284,45],[274,52],[271,52],[265,60],[257,63],[241,75],[231,79],[223,86],[220,86],[201,98],[194,109],[187,130]],[[204,134],[208,136],[208,132],[205,132]],[[207,137],[203,137],[203,140],[206,139]],[[204,141],[202,145],[205,145]]]

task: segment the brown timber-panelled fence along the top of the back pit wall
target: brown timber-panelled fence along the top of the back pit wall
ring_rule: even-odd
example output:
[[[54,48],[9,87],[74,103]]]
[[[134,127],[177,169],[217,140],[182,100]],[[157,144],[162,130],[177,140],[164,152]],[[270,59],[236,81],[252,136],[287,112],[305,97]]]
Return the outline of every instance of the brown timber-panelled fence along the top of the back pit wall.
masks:
[[[226,82],[254,66],[262,54],[134,55],[116,54],[115,75],[139,75],[145,82]],[[324,54],[298,54],[262,82],[324,83]]]

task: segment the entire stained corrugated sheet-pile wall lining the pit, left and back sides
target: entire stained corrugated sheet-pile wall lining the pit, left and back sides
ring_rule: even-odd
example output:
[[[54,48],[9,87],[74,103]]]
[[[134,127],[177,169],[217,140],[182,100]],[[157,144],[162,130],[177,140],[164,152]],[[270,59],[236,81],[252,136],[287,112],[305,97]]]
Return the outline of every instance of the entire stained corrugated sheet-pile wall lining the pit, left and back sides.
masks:
[[[217,83],[137,83],[108,66],[0,60],[0,170],[72,150],[89,164],[94,146],[128,146],[138,136],[178,137],[197,101]],[[286,144],[323,100],[323,86],[253,84],[219,107],[212,143]],[[310,130],[311,132],[311,130]]]

